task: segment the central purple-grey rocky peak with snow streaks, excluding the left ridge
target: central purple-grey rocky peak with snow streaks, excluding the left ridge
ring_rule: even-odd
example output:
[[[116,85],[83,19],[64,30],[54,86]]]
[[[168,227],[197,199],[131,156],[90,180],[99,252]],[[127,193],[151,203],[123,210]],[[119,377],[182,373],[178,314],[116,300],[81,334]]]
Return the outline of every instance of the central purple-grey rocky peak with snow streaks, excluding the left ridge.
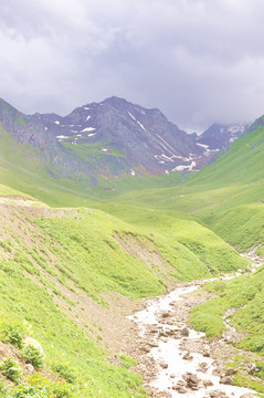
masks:
[[[86,104],[65,117],[35,114],[33,118],[64,147],[85,151],[89,160],[95,157],[113,175],[157,175],[179,166],[189,169],[203,153],[159,109],[118,97]]]

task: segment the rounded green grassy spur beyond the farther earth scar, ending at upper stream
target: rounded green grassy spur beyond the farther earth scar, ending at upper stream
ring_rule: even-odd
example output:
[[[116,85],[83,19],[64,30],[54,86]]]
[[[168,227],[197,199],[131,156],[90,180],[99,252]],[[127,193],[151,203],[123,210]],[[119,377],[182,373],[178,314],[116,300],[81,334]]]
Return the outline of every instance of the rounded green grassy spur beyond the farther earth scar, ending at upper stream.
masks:
[[[129,222],[131,231],[131,226],[146,234],[151,231],[151,240],[166,260],[176,265],[179,279],[189,279],[190,275],[197,279],[246,265],[230,245],[188,214],[128,205],[105,205],[102,208]],[[180,249],[178,254],[177,248]],[[191,253],[188,263],[181,255],[183,248]]]

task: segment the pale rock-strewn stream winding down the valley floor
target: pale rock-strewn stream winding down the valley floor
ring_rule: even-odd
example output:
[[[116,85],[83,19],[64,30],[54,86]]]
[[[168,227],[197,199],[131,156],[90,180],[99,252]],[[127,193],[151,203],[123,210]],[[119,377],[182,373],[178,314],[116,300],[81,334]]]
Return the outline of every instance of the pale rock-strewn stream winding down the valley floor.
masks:
[[[240,273],[222,279],[237,275]],[[190,328],[188,324],[188,293],[199,290],[204,282],[208,281],[193,282],[152,298],[145,310],[129,316],[149,347],[145,355],[155,363],[154,377],[149,381],[149,386],[157,391],[155,397],[239,398],[246,395],[250,398],[256,394],[249,388],[230,385],[232,380],[229,374],[219,374],[212,358],[213,346],[204,333]],[[230,327],[228,323],[226,326]]]

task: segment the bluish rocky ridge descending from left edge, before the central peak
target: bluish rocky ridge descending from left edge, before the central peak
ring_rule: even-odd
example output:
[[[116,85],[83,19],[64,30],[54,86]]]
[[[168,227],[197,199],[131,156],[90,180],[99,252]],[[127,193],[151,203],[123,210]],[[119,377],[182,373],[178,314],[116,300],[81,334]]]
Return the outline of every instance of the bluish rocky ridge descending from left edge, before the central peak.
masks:
[[[15,151],[18,166],[27,157],[53,178],[93,179],[87,166],[71,149],[64,148],[41,122],[20,113],[3,100],[0,100],[1,126],[0,151],[3,158],[12,158],[12,151]]]

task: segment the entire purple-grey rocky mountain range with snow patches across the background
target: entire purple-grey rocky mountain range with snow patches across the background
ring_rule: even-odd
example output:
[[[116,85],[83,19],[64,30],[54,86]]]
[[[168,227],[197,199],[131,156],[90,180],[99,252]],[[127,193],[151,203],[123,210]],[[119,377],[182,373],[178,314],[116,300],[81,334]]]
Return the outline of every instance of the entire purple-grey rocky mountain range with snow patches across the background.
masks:
[[[6,138],[19,144],[15,150],[27,149],[27,158],[51,177],[89,185],[123,175],[197,171],[226,147],[235,129],[225,127],[223,134],[219,126],[200,137],[188,135],[159,109],[146,109],[115,96],[77,107],[64,117],[54,113],[24,115],[1,100],[0,123]],[[236,130],[242,132],[242,127]]]

